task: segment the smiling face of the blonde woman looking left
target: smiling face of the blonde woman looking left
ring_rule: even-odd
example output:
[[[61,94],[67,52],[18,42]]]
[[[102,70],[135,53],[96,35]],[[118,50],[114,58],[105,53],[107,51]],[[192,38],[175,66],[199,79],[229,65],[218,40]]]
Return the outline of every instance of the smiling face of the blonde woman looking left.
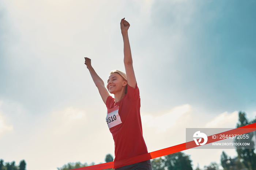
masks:
[[[116,92],[120,92],[123,87],[127,85],[127,81],[123,79],[118,73],[110,74],[107,89],[109,93],[115,94]]]

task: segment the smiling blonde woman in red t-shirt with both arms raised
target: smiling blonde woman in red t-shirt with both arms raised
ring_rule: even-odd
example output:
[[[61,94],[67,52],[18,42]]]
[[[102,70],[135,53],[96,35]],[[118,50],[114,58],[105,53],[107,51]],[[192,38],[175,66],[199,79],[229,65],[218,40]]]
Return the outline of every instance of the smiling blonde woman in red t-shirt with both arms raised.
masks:
[[[123,18],[120,25],[124,41],[126,74],[119,70],[112,71],[109,75],[107,88],[105,88],[104,82],[91,66],[91,59],[85,58],[85,64],[108,109],[106,123],[114,139],[114,161],[148,153],[142,135],[139,88],[132,66],[132,54],[128,39],[130,24]],[[114,98],[109,93],[114,94]],[[152,170],[150,160],[115,168],[117,170]]]

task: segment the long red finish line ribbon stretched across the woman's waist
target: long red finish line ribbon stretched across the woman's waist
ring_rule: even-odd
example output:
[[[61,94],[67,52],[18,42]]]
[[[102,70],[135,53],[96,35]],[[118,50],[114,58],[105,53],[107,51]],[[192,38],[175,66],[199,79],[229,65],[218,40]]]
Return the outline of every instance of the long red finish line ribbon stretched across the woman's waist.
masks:
[[[236,128],[233,130],[229,130],[226,132],[221,132],[219,134],[215,134],[216,136],[218,135],[232,135],[232,134],[236,134],[236,135],[242,135],[242,134],[246,134],[252,131],[256,131],[256,123],[253,124],[249,124],[240,128]],[[208,140],[207,143],[212,143],[212,142],[217,142],[219,140],[223,140],[223,139],[213,139],[212,138],[213,135],[208,136]],[[169,154],[173,154],[176,152],[180,152],[180,151],[184,151],[190,148],[194,148],[194,147],[198,147],[198,145],[196,145],[195,141],[190,141],[190,142],[186,142],[186,143],[182,143],[182,144],[178,144],[175,146],[171,146],[168,148],[164,148],[161,150],[157,150],[157,151],[153,151],[147,154],[143,154],[143,155],[138,155],[136,157],[132,157],[132,158],[127,158],[127,159],[123,159],[123,160],[119,160],[119,161],[114,161],[114,162],[107,162],[107,163],[101,163],[98,165],[93,165],[93,166],[87,166],[87,167],[82,167],[82,168],[77,168],[74,170],[102,170],[102,169],[110,169],[110,168],[116,168],[116,167],[122,167],[122,166],[126,166],[126,165],[131,165],[134,163],[139,163],[139,162],[143,162],[143,161],[147,161],[150,159],[154,159],[154,158],[158,158],[158,157],[162,157],[165,155],[169,155]]]

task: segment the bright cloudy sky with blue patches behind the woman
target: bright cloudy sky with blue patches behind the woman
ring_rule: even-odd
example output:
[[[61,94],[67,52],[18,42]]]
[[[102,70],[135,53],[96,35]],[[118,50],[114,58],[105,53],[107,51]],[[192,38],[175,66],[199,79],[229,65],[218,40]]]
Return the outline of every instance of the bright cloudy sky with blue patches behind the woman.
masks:
[[[105,82],[124,71],[124,17],[149,152],[185,143],[186,128],[235,128],[239,111],[255,119],[255,8],[253,0],[0,0],[0,159],[56,170],[114,155],[84,57]],[[203,168],[222,151],[184,152]]]

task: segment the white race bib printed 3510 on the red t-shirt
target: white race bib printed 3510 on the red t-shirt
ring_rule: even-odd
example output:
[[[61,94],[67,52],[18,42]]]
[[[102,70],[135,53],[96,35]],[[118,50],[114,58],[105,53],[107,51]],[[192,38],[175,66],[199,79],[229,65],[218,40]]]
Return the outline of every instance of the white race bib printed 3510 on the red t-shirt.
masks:
[[[112,127],[122,123],[120,116],[118,114],[118,109],[119,109],[119,106],[114,107],[112,109],[108,109],[106,122],[107,122],[109,128],[112,128]]]

